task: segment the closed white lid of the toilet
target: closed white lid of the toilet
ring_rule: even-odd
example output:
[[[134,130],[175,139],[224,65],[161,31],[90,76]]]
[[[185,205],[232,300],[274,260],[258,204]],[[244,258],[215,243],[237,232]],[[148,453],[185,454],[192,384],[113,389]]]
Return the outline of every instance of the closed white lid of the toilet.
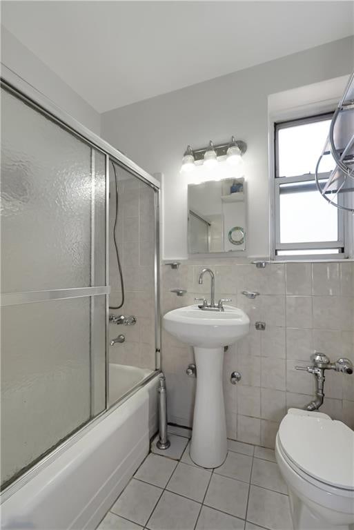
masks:
[[[279,442],[296,467],[332,486],[354,490],[354,431],[318,415],[287,414]]]

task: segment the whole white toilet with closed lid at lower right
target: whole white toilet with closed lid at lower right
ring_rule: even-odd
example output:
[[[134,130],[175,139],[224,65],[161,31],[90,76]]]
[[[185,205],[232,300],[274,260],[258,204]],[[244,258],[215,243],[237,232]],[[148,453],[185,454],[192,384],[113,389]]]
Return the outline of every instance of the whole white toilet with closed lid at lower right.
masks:
[[[294,530],[354,530],[354,431],[324,413],[289,409],[275,457]]]

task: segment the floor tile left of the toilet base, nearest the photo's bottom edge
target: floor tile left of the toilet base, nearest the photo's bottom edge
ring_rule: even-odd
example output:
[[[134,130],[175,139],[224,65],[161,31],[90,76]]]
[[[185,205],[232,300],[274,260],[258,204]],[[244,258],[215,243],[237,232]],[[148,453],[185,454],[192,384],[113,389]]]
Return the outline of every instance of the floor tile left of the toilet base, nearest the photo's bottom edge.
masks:
[[[270,530],[292,530],[288,495],[251,486],[247,520]]]

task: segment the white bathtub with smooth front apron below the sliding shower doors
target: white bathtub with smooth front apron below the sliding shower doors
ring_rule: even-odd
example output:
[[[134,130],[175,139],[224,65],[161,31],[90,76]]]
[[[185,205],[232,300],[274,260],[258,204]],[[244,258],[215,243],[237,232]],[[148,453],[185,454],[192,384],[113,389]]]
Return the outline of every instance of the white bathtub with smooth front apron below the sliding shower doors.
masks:
[[[1,529],[95,529],[148,454],[158,375],[111,365],[110,402],[150,378],[3,492]]]

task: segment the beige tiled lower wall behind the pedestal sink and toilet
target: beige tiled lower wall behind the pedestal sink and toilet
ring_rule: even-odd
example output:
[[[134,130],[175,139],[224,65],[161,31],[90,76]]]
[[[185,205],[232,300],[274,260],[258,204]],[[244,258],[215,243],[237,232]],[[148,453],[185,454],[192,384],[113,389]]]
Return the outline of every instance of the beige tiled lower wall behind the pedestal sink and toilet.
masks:
[[[201,268],[215,273],[215,298],[232,298],[250,317],[250,334],[230,346],[224,360],[224,396],[228,436],[242,442],[273,447],[280,420],[291,406],[303,407],[314,391],[314,376],[295,371],[310,364],[314,350],[335,361],[354,362],[354,264],[239,264],[233,259],[183,262],[177,271],[162,265],[162,313],[210,297],[210,281],[197,280]],[[186,288],[177,297],[172,288]],[[259,291],[249,300],[242,291]],[[266,322],[256,331],[255,322]],[[168,383],[168,420],[191,425],[195,379],[185,373],[193,349],[163,331],[162,363]],[[242,380],[230,384],[237,370]],[[326,372],[322,412],[354,428],[354,376]]]

